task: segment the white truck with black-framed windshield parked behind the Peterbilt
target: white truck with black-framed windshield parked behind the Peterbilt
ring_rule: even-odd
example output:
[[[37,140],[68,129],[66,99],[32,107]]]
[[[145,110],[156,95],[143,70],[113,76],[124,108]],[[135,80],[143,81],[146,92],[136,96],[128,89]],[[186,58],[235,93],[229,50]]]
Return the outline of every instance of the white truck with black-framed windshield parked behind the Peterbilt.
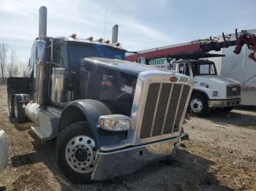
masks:
[[[194,79],[189,110],[197,116],[206,116],[212,108],[230,112],[241,102],[241,84],[219,76],[213,61],[158,58],[151,59],[149,65],[175,70]]]

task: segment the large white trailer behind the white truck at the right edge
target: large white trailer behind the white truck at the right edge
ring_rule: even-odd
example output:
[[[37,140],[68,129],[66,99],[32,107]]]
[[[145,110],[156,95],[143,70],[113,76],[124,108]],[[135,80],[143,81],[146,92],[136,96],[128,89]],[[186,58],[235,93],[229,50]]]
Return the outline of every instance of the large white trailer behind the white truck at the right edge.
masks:
[[[248,31],[256,34],[256,29]],[[230,39],[235,39],[235,34]],[[225,57],[209,58],[216,64],[217,72],[222,77],[230,77],[241,83],[241,105],[256,106],[256,63],[248,57],[251,50],[248,47],[242,47],[241,53],[233,53],[234,47],[222,48],[214,54],[223,54]]]

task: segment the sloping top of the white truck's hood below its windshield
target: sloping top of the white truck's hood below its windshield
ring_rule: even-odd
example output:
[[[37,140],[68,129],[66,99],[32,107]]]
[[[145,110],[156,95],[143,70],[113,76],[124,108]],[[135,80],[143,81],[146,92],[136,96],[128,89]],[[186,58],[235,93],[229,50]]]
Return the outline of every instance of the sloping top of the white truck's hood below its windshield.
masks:
[[[195,82],[213,82],[213,83],[218,83],[218,84],[222,84],[222,85],[235,85],[235,84],[240,85],[240,83],[234,79],[227,78],[227,77],[221,77],[218,75],[196,76],[194,78],[194,81]]]

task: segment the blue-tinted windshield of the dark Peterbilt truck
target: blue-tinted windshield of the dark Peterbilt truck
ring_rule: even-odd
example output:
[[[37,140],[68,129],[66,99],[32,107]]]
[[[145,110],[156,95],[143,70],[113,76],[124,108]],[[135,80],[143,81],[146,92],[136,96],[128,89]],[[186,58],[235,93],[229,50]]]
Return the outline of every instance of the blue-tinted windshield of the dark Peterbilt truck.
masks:
[[[81,58],[99,57],[124,60],[125,50],[109,47],[102,44],[70,43],[69,61],[73,65],[80,65]]]

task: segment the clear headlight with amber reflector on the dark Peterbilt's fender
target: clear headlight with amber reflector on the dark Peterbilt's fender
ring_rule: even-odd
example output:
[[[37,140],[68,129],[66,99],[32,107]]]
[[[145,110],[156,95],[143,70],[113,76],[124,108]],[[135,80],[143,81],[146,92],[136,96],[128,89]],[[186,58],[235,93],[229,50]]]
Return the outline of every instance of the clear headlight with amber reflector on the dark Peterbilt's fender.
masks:
[[[123,114],[102,115],[99,117],[99,126],[105,130],[128,130],[131,127],[131,120]]]

